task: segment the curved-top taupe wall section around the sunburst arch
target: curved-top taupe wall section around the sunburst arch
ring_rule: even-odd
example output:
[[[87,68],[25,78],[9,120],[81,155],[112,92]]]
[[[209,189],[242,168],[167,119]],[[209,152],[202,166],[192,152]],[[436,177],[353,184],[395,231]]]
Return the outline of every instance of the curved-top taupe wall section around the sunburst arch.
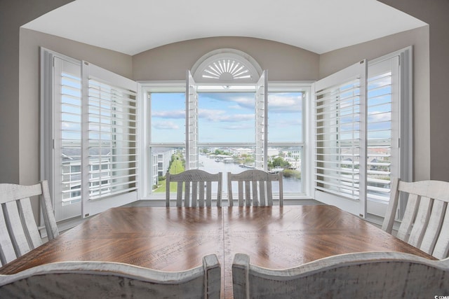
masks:
[[[185,71],[192,69],[201,56],[220,48],[234,48],[250,55],[268,70],[271,81],[318,78],[316,53],[264,39],[214,37],[171,43],[134,55],[134,80],[184,80]]]

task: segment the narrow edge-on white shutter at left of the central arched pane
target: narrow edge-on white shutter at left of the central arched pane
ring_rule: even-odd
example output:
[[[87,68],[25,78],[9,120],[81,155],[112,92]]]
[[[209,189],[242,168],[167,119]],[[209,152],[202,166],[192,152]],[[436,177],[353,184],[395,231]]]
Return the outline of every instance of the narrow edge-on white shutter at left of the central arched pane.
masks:
[[[190,71],[187,71],[186,79],[186,168],[198,169],[199,148],[198,148],[198,93],[196,84]]]

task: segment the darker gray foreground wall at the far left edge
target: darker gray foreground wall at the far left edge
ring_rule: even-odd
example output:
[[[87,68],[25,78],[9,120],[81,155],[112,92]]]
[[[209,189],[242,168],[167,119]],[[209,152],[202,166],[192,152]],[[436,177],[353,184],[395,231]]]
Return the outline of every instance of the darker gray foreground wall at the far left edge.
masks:
[[[0,1],[0,182],[19,183],[19,28],[72,0]],[[37,148],[29,148],[37,151]]]

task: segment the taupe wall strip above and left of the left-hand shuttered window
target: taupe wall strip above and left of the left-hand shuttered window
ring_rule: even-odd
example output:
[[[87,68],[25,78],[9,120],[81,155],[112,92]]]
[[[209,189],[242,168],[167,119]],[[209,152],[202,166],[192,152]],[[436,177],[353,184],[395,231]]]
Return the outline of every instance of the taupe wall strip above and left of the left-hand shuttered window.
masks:
[[[20,29],[19,181],[39,181],[39,46],[132,77],[132,57],[58,36]],[[30,148],[34,149],[30,151]]]

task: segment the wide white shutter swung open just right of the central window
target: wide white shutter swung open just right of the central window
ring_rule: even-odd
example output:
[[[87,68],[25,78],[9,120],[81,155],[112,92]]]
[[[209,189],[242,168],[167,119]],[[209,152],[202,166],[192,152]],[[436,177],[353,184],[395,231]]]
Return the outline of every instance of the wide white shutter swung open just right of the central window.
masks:
[[[316,200],[366,215],[366,61],[314,84]]]

